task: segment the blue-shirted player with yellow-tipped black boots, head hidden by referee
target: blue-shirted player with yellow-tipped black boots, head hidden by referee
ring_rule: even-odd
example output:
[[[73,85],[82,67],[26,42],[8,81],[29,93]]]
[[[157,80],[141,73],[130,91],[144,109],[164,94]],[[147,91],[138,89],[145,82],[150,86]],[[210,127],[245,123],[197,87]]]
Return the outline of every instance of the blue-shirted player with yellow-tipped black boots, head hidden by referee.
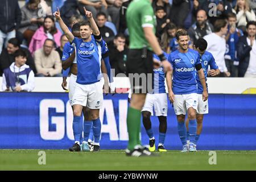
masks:
[[[168,57],[168,54],[164,52],[164,56]],[[166,86],[164,84],[164,69],[160,67],[160,59],[157,55],[153,55],[154,61],[154,93],[147,93],[145,104],[142,108],[142,121],[146,133],[149,138],[150,152],[155,151],[155,137],[151,128],[150,116],[153,115],[153,107],[155,110],[155,115],[159,120],[159,143],[158,151],[166,152],[164,148],[164,139],[166,138],[167,130],[167,96],[166,96]],[[170,74],[170,71],[168,71]],[[167,72],[167,74],[168,74]]]

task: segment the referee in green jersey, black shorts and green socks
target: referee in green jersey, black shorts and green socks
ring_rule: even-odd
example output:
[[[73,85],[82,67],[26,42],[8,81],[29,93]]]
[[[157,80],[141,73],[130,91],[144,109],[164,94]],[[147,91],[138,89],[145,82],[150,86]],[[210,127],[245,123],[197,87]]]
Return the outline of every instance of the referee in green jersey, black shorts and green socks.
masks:
[[[139,134],[141,131],[141,110],[146,99],[146,93],[152,88],[154,51],[160,58],[165,69],[169,71],[168,63],[155,36],[155,15],[151,0],[135,0],[126,11],[127,27],[130,35],[130,50],[127,55],[127,75],[131,83],[131,103],[127,113],[127,130],[129,143],[127,156],[151,155],[151,152],[141,146]],[[144,77],[144,81],[138,77]],[[139,79],[139,80],[138,80]],[[134,81],[135,80],[135,81]]]

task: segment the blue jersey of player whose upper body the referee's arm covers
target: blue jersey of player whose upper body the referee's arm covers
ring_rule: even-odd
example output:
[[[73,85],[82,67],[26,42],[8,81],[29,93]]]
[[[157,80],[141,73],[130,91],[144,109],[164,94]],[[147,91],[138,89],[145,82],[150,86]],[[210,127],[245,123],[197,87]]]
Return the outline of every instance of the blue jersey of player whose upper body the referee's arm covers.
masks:
[[[169,56],[168,53],[164,52],[164,56],[166,58]],[[159,57],[154,54],[153,58],[156,60],[159,60]],[[160,68],[154,68],[154,93],[166,93],[166,85],[164,84],[164,69],[162,67]]]

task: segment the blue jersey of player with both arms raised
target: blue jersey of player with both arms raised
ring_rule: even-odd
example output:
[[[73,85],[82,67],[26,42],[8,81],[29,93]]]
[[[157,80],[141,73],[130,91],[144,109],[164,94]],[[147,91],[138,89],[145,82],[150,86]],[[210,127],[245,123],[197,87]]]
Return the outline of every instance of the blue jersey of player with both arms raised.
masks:
[[[102,43],[97,42],[92,36],[90,42],[74,38],[77,61],[77,80],[82,85],[93,84],[101,80],[101,51]]]

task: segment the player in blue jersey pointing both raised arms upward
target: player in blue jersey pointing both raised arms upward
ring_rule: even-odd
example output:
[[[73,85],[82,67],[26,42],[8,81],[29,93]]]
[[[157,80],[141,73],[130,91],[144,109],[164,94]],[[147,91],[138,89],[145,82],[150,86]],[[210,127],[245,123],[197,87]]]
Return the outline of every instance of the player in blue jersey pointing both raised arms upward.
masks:
[[[65,25],[60,16],[59,9],[54,13],[61,29],[66,34],[69,42],[75,44],[77,60],[77,80],[75,92],[70,101],[73,106],[73,134],[75,144],[69,151],[80,151],[81,113],[84,107],[90,109],[90,117],[93,121],[94,148],[93,151],[100,151],[101,121],[99,117],[100,107],[103,102],[101,83],[101,51],[104,42],[100,31],[93,19],[92,13],[86,11],[88,22],[80,23],[81,39],[76,38]],[[108,83],[105,83],[108,85]],[[105,87],[106,88],[106,87]]]

